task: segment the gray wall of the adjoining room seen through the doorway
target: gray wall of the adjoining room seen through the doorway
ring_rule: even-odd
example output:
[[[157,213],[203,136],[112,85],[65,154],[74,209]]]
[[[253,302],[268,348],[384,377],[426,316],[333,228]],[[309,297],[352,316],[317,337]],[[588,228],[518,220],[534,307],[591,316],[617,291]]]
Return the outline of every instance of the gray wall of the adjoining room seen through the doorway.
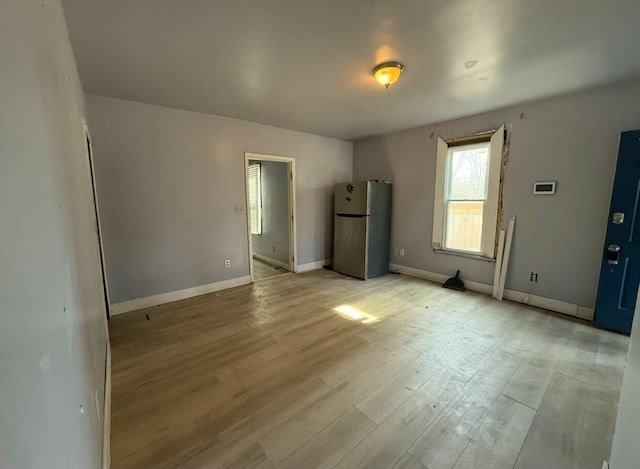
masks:
[[[287,163],[262,161],[262,234],[253,252],[289,264],[289,172]]]

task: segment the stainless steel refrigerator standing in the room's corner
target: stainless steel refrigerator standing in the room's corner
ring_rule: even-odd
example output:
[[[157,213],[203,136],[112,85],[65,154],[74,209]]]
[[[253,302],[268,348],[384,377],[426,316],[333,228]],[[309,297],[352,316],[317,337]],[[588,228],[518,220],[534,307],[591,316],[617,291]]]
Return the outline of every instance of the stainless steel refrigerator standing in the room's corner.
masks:
[[[333,269],[361,279],[389,273],[391,184],[336,184]]]

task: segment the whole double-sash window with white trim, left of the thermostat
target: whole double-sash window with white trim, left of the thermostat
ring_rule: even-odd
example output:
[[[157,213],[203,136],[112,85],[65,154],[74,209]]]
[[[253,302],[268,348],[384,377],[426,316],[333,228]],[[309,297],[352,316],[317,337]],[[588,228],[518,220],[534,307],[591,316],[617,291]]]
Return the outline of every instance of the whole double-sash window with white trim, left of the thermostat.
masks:
[[[504,127],[464,140],[438,139],[432,246],[495,258]]]

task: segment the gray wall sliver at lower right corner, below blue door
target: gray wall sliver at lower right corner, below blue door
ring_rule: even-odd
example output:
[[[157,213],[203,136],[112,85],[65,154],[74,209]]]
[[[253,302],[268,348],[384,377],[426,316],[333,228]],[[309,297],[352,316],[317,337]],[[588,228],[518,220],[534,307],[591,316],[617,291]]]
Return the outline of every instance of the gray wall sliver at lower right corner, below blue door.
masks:
[[[636,318],[640,318],[640,297],[636,301]],[[611,469],[638,467],[638,422],[640,422],[640,321],[634,321],[624,369],[620,406],[611,448]]]

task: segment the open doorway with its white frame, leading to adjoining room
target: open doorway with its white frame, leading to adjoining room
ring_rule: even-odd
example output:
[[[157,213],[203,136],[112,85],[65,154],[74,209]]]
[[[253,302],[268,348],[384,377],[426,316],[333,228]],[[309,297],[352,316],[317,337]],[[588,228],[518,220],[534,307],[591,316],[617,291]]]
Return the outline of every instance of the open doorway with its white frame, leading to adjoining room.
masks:
[[[251,281],[296,271],[295,160],[245,153]]]

